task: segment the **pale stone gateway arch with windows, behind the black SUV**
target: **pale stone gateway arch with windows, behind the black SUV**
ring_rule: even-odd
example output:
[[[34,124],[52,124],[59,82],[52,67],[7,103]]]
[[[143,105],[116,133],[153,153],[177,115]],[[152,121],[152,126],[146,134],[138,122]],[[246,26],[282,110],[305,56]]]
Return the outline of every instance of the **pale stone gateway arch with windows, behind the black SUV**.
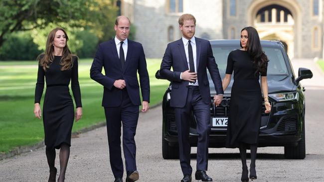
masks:
[[[260,17],[257,18],[257,14],[265,7],[274,7],[277,10],[285,10],[285,13],[286,11],[289,12],[291,14],[289,17],[291,19],[290,23],[280,23],[280,21],[279,23],[277,23],[278,21],[259,23],[258,20],[260,21]],[[276,11],[273,11],[272,14],[274,12]],[[296,0],[254,0],[251,2],[247,10],[247,23],[250,26],[256,27],[260,39],[269,39],[274,37],[282,40],[287,44],[288,55],[290,58],[300,58],[302,56],[302,46],[300,45],[302,40],[301,36],[298,35],[302,32],[301,15],[301,7]]]

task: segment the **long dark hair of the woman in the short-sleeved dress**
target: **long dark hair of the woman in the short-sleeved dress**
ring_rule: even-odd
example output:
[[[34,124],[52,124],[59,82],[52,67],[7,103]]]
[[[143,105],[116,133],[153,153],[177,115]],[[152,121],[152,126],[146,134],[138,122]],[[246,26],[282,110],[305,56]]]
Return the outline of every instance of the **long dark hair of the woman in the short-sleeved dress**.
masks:
[[[247,52],[249,53],[249,55],[252,58],[254,67],[257,69],[256,72],[266,71],[269,60],[268,60],[267,55],[262,50],[258,31],[252,26],[243,28],[241,30],[241,32],[243,30],[246,30],[248,32],[249,38],[248,38],[248,43],[247,43],[247,46],[248,46]],[[240,46],[242,47],[241,42],[240,42]],[[257,74],[257,73],[255,73],[255,74]]]

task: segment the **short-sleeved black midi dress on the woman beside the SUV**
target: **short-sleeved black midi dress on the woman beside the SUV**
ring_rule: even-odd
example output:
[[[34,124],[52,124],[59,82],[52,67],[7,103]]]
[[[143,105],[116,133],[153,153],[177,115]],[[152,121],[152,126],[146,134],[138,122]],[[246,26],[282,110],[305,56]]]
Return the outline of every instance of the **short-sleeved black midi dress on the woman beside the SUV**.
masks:
[[[257,144],[261,124],[262,94],[259,83],[267,71],[256,73],[247,51],[234,50],[227,59],[226,74],[234,71],[230,111],[227,125],[227,148],[238,148],[240,143]]]

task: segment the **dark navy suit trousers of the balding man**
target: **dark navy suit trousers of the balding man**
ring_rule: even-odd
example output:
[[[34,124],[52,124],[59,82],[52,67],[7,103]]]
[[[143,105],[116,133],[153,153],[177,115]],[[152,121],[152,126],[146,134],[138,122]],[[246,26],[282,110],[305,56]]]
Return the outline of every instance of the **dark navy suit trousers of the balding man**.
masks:
[[[105,107],[110,166],[115,178],[122,178],[124,174],[120,139],[122,124],[126,172],[130,173],[137,170],[134,137],[139,118],[139,105],[132,103],[126,88],[122,92],[123,100],[120,106]]]

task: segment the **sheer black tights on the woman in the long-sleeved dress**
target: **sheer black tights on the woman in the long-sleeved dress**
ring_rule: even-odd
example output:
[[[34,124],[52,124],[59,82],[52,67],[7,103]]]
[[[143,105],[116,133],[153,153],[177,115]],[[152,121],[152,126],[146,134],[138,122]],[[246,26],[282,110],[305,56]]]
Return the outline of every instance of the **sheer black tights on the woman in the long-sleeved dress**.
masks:
[[[46,158],[49,170],[55,169],[55,149],[46,149]],[[62,144],[60,149],[60,176],[58,182],[64,182],[67,163],[70,157],[70,147],[67,144]]]

